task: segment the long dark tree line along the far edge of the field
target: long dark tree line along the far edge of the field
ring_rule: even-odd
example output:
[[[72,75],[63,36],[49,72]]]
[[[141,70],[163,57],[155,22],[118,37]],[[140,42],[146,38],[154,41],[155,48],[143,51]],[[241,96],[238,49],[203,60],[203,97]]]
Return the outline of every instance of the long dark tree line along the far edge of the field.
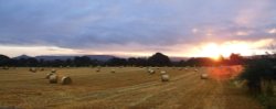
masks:
[[[73,59],[36,59],[34,57],[29,58],[10,58],[6,55],[0,55],[0,66],[17,66],[17,67],[60,67],[60,66],[221,66],[221,65],[242,65],[246,58],[243,58],[240,54],[232,54],[230,58],[221,56],[214,61],[209,57],[191,57],[187,61],[172,62],[169,56],[162,53],[156,53],[149,57],[129,57],[119,58],[114,57],[108,61],[91,59],[87,56],[76,56]]]

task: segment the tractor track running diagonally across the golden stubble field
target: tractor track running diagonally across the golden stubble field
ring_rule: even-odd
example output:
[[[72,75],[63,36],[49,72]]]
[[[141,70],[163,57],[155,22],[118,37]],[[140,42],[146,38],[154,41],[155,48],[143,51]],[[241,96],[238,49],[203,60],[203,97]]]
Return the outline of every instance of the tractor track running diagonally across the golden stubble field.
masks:
[[[159,75],[159,74],[155,74],[155,75]],[[150,91],[150,90],[155,90],[155,92],[151,94],[151,96],[153,96],[157,92],[163,91],[163,90],[156,90],[157,87],[163,87],[163,88],[171,87],[172,86],[171,84],[173,84],[173,81],[178,81],[181,78],[189,79],[192,77],[191,75],[194,75],[194,73],[185,73],[183,75],[179,75],[174,78],[171,78],[169,83],[161,83],[160,79],[157,79],[155,81],[144,83],[139,85],[126,86],[126,87],[119,87],[115,89],[99,90],[96,92],[85,94],[85,95],[81,95],[77,97],[73,97],[72,99],[74,101],[88,100],[92,103],[92,102],[99,102],[99,101],[104,101],[108,99],[119,98],[126,95],[131,95],[131,92],[135,94],[135,92],[140,92],[140,91]],[[189,80],[192,80],[192,79],[189,79]],[[187,83],[187,84],[190,84],[190,83]],[[169,88],[166,88],[166,89],[169,89]],[[50,107],[62,106],[62,105],[65,105],[66,102],[71,102],[72,99],[71,100],[68,99],[71,98],[57,99],[56,101],[61,101],[61,102],[51,103],[49,106]]]

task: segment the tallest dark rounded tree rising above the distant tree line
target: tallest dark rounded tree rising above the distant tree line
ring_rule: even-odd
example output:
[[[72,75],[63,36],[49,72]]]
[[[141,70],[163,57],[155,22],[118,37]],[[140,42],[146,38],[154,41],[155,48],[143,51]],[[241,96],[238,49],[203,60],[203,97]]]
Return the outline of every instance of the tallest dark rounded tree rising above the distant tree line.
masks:
[[[148,58],[148,62],[152,66],[170,66],[171,65],[170,58],[161,53],[153,54],[152,56]]]

